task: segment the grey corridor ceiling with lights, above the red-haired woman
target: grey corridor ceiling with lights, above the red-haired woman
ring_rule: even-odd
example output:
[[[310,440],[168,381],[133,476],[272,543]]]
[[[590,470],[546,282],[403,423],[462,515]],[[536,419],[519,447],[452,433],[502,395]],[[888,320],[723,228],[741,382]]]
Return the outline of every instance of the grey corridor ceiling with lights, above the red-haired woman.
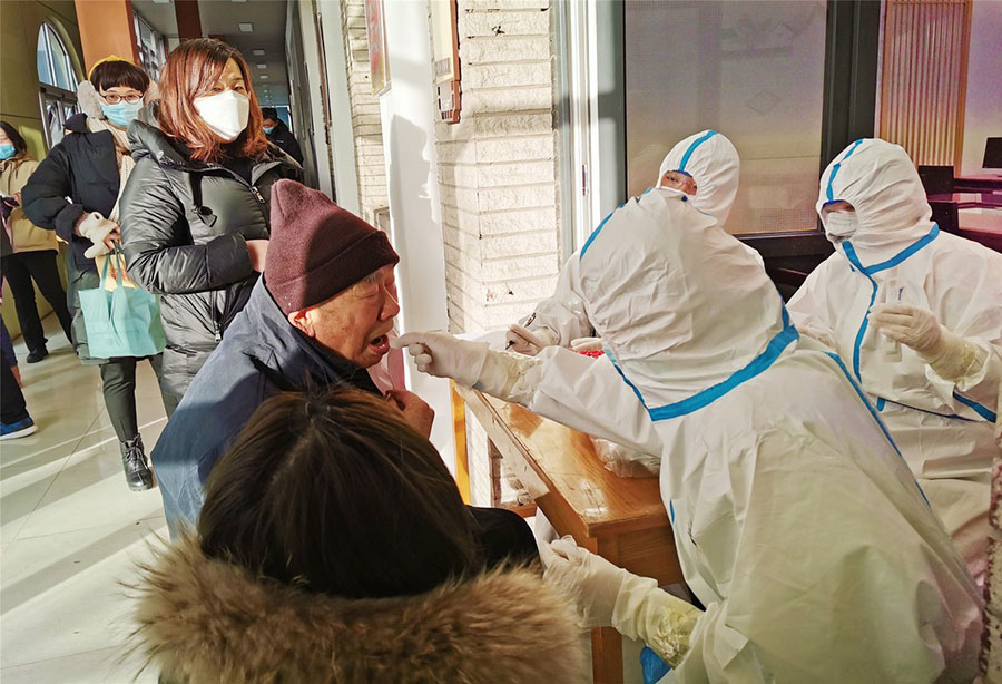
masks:
[[[132,8],[168,39],[177,38],[173,1],[132,0]],[[198,12],[205,36],[225,40],[247,59],[261,104],[287,104],[286,0],[198,0]],[[253,31],[240,31],[240,23],[253,25]],[[263,50],[264,55],[255,55],[255,50]]]

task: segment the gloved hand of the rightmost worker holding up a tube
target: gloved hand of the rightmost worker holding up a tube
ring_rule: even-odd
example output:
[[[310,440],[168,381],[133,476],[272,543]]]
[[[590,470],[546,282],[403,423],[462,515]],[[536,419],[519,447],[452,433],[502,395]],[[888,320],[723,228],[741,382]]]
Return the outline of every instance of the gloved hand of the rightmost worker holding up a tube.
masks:
[[[978,344],[950,332],[936,316],[911,304],[877,304],[871,324],[885,338],[910,346],[944,380],[959,381],[976,373],[986,353]]]

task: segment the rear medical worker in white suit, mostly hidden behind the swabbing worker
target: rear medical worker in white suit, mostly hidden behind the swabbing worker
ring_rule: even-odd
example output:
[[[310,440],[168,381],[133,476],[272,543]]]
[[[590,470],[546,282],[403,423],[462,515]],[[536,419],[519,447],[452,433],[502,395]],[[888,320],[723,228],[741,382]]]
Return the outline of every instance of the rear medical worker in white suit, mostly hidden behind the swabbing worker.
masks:
[[[727,136],[703,130],[678,143],[658,170],[658,187],[670,187],[689,195],[689,201],[724,225],[737,195],[737,150]],[[568,260],[568,264],[577,254]],[[512,351],[534,355],[543,346],[559,344],[574,350],[601,349],[595,329],[584,314],[581,296],[573,292],[567,266],[557,280],[557,290],[540,302],[536,311],[512,325],[507,339]]]

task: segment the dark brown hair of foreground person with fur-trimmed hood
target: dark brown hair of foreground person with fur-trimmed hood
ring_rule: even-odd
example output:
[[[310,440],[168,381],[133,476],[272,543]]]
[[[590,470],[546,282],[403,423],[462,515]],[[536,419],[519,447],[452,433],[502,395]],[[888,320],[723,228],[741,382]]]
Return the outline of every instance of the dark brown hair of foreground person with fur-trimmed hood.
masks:
[[[431,442],[358,390],[265,401],[216,463],[206,555],[351,598],[412,595],[480,569],[472,518]]]

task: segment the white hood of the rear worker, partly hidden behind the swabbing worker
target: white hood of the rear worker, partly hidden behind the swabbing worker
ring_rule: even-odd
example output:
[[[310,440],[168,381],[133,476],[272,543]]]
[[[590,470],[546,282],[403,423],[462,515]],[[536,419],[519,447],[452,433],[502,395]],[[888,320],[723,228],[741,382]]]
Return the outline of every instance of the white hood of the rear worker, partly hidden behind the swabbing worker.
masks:
[[[737,150],[727,136],[703,130],[679,141],[661,162],[658,183],[669,170],[691,176],[696,195],[690,201],[696,208],[713,215],[718,225],[724,225],[737,196],[740,174]]]

